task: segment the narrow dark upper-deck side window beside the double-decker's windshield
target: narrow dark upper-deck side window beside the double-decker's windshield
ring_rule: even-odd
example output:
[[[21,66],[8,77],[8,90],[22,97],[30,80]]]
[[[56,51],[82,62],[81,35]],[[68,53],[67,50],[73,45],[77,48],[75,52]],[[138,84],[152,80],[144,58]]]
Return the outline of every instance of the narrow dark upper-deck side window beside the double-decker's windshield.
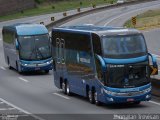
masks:
[[[96,34],[92,34],[92,41],[93,41],[93,51],[95,54],[102,55],[102,48],[100,37]]]

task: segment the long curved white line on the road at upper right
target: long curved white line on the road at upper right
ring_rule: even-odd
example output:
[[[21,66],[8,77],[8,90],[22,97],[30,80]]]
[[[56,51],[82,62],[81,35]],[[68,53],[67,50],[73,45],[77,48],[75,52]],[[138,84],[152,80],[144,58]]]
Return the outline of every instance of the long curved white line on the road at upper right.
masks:
[[[159,6],[159,4],[158,4],[158,5],[153,5],[153,6]],[[153,6],[150,6],[150,7],[153,7]],[[111,19],[111,20],[109,20],[107,23],[104,24],[104,26],[107,26],[109,23],[111,23],[112,21],[114,21],[114,20],[116,20],[116,19],[118,19],[118,18],[120,18],[120,17],[122,17],[122,16],[125,16],[125,15],[127,15],[127,14],[131,14],[131,13],[134,13],[134,12],[136,12],[136,11],[140,11],[140,10],[143,10],[143,9],[146,9],[146,8],[150,8],[150,7],[147,6],[147,7],[143,7],[143,8],[139,8],[139,9],[132,10],[132,11],[127,12],[127,13],[123,13],[123,14],[121,14],[121,15],[119,15],[119,16]]]

